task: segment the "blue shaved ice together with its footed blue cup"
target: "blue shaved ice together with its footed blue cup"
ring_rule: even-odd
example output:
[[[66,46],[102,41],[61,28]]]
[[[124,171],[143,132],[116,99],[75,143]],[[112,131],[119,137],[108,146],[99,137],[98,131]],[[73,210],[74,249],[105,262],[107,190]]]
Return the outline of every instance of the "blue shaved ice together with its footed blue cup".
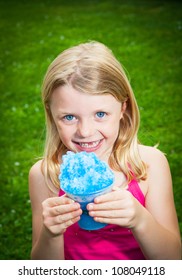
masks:
[[[112,189],[114,173],[104,161],[94,153],[69,151],[62,157],[59,180],[61,189],[81,204],[80,227],[93,230],[106,225],[95,222],[86,210],[95,197]]]

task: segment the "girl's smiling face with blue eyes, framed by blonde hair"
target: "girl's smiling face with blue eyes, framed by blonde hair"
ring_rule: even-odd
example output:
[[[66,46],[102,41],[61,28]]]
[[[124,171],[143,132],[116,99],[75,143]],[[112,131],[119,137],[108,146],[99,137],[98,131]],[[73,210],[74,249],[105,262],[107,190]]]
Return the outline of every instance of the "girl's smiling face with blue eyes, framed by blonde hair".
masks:
[[[50,104],[61,141],[70,151],[94,152],[108,160],[123,109],[112,95],[89,95],[72,86],[57,88]]]

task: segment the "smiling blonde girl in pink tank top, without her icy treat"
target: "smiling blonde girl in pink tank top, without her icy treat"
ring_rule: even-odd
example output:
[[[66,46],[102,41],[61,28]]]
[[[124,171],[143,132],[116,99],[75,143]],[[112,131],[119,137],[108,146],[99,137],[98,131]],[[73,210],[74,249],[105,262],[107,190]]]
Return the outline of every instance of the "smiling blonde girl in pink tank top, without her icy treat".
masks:
[[[165,156],[139,145],[139,112],[120,63],[103,44],[61,53],[42,90],[44,157],[30,170],[32,259],[180,259],[181,241]],[[87,205],[108,225],[78,226],[80,205],[59,192],[62,155],[94,152],[115,173],[113,191]]]

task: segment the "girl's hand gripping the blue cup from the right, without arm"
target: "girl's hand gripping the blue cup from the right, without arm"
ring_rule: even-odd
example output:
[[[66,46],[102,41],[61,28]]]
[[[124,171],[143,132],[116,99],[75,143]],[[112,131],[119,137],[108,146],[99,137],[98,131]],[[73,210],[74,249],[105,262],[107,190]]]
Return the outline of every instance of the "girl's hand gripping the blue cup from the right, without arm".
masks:
[[[135,228],[142,221],[145,208],[127,190],[117,189],[95,198],[87,205],[89,215],[95,221]]]

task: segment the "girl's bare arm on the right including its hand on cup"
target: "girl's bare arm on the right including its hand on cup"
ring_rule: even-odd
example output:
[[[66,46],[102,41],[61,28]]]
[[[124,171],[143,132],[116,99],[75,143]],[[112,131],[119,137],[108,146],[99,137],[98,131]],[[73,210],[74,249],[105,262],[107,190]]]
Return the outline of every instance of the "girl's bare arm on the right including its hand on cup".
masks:
[[[116,190],[88,205],[89,214],[96,221],[130,228],[147,259],[181,259],[168,162],[160,151],[146,149],[144,161],[149,164],[146,208],[128,191]]]

